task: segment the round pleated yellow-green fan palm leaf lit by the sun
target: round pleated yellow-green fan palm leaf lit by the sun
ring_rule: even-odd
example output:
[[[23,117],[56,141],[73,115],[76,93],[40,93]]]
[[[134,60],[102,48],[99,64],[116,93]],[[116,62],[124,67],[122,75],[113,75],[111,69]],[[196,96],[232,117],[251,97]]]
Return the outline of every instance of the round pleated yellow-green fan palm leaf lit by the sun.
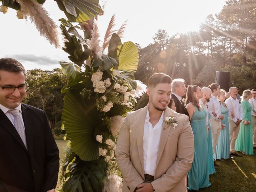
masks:
[[[118,70],[134,73],[137,70],[139,62],[139,53],[133,42],[124,42],[118,46]]]

